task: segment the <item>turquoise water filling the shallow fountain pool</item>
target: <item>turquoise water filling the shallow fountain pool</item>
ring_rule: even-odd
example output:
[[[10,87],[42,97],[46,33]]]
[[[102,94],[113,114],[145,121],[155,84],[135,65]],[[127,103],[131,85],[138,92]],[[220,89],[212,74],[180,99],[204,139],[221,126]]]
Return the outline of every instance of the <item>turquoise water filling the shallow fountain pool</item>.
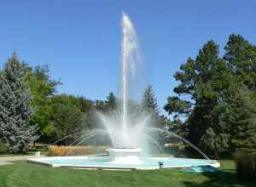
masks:
[[[41,161],[54,167],[98,167],[98,168],[134,168],[134,169],[157,169],[159,162],[163,168],[169,167],[193,167],[210,166],[214,161],[207,159],[172,158],[172,157],[142,157],[138,163],[114,163],[109,161],[108,156],[70,156],[41,158]]]

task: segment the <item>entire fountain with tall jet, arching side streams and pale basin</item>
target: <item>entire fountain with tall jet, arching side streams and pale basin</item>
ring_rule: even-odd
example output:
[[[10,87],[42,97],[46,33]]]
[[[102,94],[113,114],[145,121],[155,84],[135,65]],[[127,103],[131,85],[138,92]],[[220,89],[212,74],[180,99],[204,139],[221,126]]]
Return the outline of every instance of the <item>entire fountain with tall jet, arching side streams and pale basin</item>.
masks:
[[[150,115],[143,111],[136,118],[131,116],[128,110],[128,80],[135,76],[137,59],[137,34],[129,17],[123,13],[122,17],[122,97],[121,113],[102,114],[97,116],[105,129],[94,129],[76,139],[72,145],[81,144],[84,139],[90,139],[96,135],[107,133],[112,146],[108,148],[106,155],[97,156],[55,156],[28,159],[31,162],[47,164],[52,167],[84,167],[84,168],[113,168],[113,169],[157,169],[172,167],[211,166],[219,167],[218,161],[210,160],[201,150],[188,140],[175,133],[167,132],[160,128],[148,127]],[[145,155],[149,144],[154,144],[160,150],[160,144],[148,131],[167,133],[189,144],[204,156],[204,159],[151,157]],[[84,132],[80,132],[84,133]],[[71,134],[72,135],[72,134]],[[70,136],[71,136],[70,135]],[[69,136],[67,136],[69,137]],[[66,138],[67,138],[66,137]],[[63,138],[65,139],[65,138]],[[63,140],[61,139],[61,140]],[[60,141],[60,140],[59,140]]]

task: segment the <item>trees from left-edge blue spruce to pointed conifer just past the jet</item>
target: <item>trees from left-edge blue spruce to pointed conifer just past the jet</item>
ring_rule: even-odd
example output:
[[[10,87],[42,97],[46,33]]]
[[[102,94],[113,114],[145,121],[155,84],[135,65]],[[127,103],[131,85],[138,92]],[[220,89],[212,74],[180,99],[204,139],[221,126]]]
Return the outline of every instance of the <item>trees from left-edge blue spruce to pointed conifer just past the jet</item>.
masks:
[[[16,53],[3,65],[0,71],[0,142],[7,145],[10,153],[26,153],[34,142],[52,144],[66,136],[67,139],[58,144],[70,144],[82,135],[79,132],[99,126],[96,111],[108,113],[118,108],[120,101],[112,92],[106,100],[90,100],[84,96],[57,94],[60,84],[49,76],[47,65],[31,67],[20,61]],[[130,100],[129,107],[131,111],[147,108],[159,122],[168,122],[160,115],[150,85],[142,103]]]

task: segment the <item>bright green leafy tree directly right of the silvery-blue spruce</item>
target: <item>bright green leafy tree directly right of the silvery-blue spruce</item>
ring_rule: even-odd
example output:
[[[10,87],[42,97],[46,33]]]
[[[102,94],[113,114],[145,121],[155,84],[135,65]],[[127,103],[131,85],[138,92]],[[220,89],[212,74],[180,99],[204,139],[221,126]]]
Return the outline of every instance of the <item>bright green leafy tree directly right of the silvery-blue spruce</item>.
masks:
[[[55,94],[56,87],[61,82],[49,77],[49,67],[47,65],[36,66],[35,68],[26,65],[26,71],[26,84],[32,94],[32,107],[35,111],[30,125],[37,124],[40,128],[38,134],[41,135],[41,139],[49,139],[49,136],[54,133],[52,124],[54,114],[50,102]]]

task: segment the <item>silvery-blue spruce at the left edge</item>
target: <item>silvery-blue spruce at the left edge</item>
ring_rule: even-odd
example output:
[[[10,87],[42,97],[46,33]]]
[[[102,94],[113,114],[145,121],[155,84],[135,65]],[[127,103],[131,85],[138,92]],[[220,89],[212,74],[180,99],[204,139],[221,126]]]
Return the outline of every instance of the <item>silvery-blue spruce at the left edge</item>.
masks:
[[[0,136],[11,153],[26,153],[28,144],[38,139],[32,118],[32,98],[26,88],[26,71],[17,55],[8,59],[0,75]]]

